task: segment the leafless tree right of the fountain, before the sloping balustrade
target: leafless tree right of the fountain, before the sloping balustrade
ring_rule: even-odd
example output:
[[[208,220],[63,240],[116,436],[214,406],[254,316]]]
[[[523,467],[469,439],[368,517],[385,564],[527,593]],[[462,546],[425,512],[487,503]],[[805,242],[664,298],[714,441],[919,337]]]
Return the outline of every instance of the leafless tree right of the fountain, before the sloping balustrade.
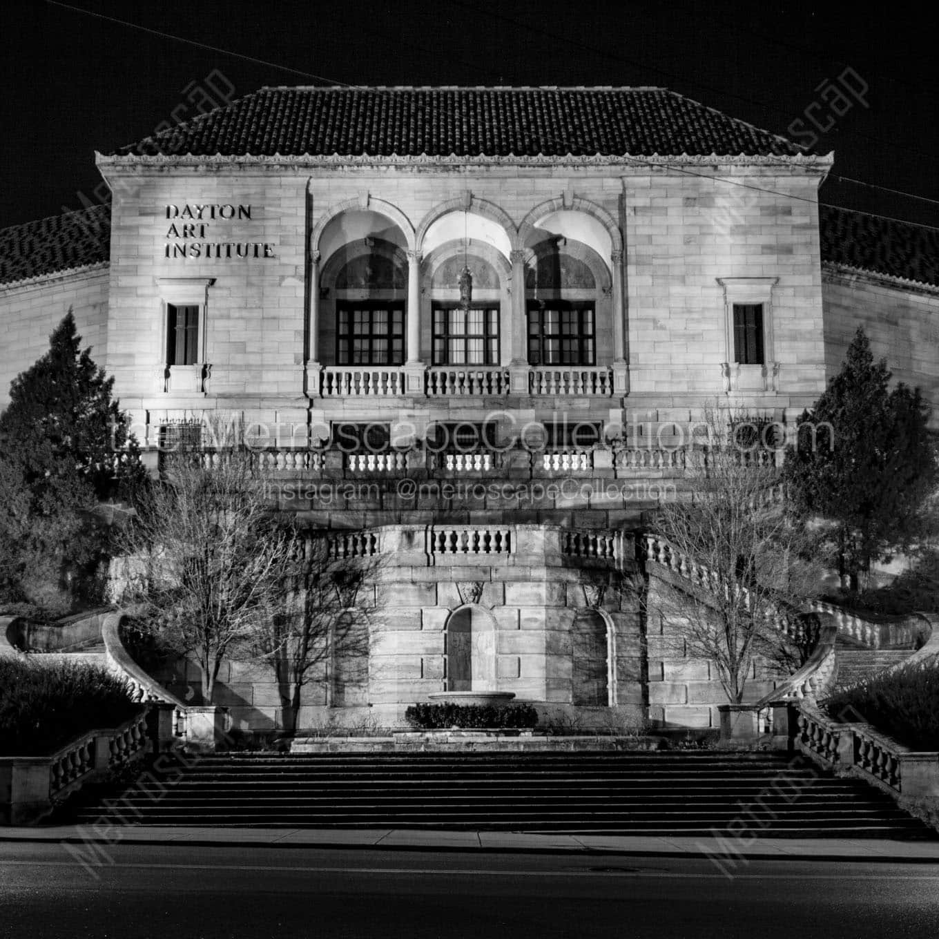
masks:
[[[780,499],[767,423],[711,404],[700,429],[690,498],[664,503],[654,523],[678,569],[659,607],[680,654],[712,661],[741,703],[759,659],[790,673],[808,656],[810,539]]]

